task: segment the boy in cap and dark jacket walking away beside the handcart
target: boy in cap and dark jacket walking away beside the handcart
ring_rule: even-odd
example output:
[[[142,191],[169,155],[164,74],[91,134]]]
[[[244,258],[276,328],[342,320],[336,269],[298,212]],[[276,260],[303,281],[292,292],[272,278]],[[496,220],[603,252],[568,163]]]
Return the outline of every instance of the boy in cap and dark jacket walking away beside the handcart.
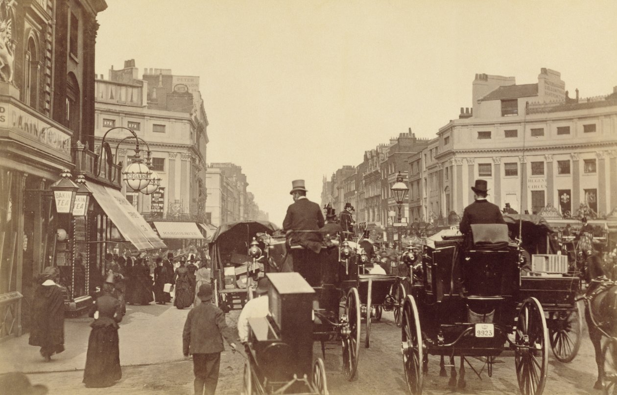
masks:
[[[183,353],[185,357],[193,355],[195,395],[213,395],[217,389],[218,368],[224,350],[223,338],[232,351],[236,351],[236,344],[233,330],[225,322],[225,314],[210,303],[212,286],[202,284],[197,297],[202,302],[189,311],[184,323]]]

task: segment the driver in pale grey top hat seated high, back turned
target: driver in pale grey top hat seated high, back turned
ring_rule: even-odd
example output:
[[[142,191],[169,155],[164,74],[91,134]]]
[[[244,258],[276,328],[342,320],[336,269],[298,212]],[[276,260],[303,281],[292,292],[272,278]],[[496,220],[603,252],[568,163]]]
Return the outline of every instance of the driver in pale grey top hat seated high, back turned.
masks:
[[[294,202],[287,208],[283,230],[288,233],[292,244],[300,244],[317,254],[321,249],[319,230],[325,225],[321,209],[317,203],[307,199],[304,180],[292,181],[289,194],[293,196]],[[299,232],[294,233],[294,230]],[[310,232],[311,230],[314,232]]]

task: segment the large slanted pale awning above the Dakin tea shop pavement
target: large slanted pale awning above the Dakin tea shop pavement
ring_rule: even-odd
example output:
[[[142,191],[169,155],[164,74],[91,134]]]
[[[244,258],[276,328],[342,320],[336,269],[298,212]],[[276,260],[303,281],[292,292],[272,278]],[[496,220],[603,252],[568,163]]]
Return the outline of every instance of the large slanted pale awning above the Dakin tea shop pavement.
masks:
[[[154,233],[144,217],[130,204],[120,191],[93,182],[88,183],[94,199],[114,223],[122,236],[139,251],[155,248],[167,248],[165,243]]]

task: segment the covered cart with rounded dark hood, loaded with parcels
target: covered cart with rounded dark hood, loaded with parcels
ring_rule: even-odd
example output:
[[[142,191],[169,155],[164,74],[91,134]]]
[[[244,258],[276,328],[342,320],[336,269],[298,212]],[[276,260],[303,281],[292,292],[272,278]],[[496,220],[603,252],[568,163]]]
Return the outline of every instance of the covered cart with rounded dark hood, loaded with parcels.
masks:
[[[212,288],[214,302],[224,312],[241,309],[252,297],[251,285],[263,267],[263,258],[249,254],[251,243],[259,235],[271,235],[277,229],[267,221],[241,221],[225,223],[215,231],[209,244]],[[263,243],[258,244],[263,251]]]

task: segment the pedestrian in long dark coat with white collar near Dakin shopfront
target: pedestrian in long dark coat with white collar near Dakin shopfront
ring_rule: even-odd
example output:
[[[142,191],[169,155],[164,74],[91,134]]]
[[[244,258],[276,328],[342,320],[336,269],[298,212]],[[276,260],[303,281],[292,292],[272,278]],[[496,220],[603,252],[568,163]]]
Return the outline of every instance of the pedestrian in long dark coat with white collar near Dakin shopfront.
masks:
[[[32,328],[28,344],[40,346],[41,355],[49,362],[51,355],[64,351],[64,296],[56,284],[60,275],[48,266],[39,276],[32,304]]]

